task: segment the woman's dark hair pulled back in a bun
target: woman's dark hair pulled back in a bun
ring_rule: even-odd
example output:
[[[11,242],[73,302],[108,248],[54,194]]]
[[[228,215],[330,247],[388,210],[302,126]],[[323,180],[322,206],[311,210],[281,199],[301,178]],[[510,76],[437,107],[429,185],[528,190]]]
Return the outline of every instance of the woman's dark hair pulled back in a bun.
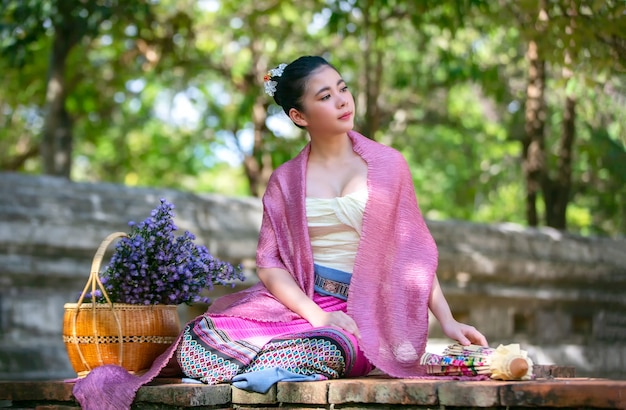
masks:
[[[276,81],[274,101],[283,107],[285,114],[295,108],[302,111],[302,96],[306,89],[307,78],[320,67],[328,66],[336,70],[328,61],[318,56],[303,56],[292,61],[285,67],[280,77],[272,77]]]

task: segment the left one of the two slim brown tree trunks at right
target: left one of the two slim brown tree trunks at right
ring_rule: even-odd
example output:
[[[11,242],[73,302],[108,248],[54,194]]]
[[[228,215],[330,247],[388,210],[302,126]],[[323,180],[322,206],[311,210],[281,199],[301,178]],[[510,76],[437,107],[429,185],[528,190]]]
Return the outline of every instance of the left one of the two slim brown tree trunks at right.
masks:
[[[538,45],[528,43],[528,85],[526,87],[525,136],[522,168],[526,179],[526,221],[539,224],[537,195],[546,175],[545,162],[545,61],[539,56]]]

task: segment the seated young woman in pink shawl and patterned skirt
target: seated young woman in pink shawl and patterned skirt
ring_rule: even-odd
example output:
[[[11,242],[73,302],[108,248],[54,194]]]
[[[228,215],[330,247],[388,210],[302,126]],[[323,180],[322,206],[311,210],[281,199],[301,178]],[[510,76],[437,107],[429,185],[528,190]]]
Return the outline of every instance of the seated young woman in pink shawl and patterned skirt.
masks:
[[[260,282],[217,299],[145,375],[94,369],[74,388],[83,406],[97,408],[93,398],[110,380],[124,381],[128,394],[119,399],[117,389],[114,399],[130,406],[137,388],[174,358],[189,379],[259,392],[281,380],[360,376],[374,367],[423,376],[429,309],[451,339],[487,345],[452,317],[407,163],[352,130],[354,99],[339,72],[305,56],[270,70],[265,90],[310,143],[268,183]]]

